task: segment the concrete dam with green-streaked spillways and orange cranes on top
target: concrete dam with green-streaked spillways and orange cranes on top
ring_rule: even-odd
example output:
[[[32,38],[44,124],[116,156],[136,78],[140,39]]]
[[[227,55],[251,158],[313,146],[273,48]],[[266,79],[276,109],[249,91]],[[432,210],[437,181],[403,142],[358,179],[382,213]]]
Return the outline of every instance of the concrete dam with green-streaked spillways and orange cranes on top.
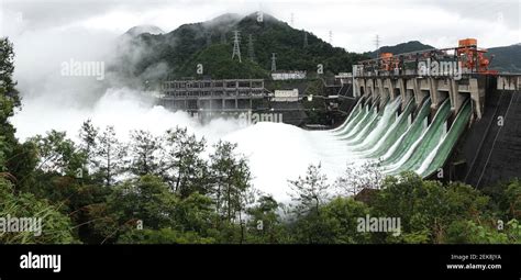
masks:
[[[463,40],[354,66],[343,82],[356,104],[330,133],[387,175],[411,170],[475,187],[521,177],[521,75],[489,70],[476,45]],[[434,61],[441,70],[422,69]]]

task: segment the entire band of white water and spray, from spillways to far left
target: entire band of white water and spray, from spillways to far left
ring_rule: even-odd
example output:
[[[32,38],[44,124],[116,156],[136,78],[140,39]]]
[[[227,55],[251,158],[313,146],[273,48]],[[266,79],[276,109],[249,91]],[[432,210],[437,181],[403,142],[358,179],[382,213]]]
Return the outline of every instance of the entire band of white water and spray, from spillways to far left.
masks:
[[[113,125],[118,137],[128,141],[133,130],[160,135],[166,130],[182,126],[198,137],[204,137],[209,150],[219,139],[237,144],[250,161],[253,184],[278,201],[288,202],[288,180],[303,176],[310,164],[321,164],[332,183],[356,160],[348,146],[326,132],[304,131],[284,123],[260,122],[248,125],[239,120],[215,119],[201,124],[184,112],[170,112],[153,105],[143,94],[129,89],[109,89],[92,108],[64,107],[47,99],[26,99],[23,110],[12,119],[16,136],[24,141],[51,130],[65,131],[76,139],[80,125],[90,119],[96,126]]]

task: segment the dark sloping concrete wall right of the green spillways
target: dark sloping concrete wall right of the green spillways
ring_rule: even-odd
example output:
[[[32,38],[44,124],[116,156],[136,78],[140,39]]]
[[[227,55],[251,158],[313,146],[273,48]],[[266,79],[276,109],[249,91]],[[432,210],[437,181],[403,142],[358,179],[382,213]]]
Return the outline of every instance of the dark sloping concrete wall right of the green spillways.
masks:
[[[459,163],[453,180],[484,188],[521,178],[520,96],[511,90],[487,92],[484,116],[468,128],[451,159]],[[451,163],[447,166],[455,166]]]

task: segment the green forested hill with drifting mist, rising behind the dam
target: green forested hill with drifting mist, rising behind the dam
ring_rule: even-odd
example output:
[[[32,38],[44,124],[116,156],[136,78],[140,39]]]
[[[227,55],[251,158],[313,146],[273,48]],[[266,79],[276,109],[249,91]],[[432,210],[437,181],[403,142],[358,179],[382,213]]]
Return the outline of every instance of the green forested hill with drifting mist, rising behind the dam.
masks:
[[[231,59],[235,30],[242,37],[242,64]],[[202,64],[203,76],[265,78],[270,70],[271,53],[276,53],[277,69],[309,72],[314,72],[318,64],[322,64],[326,72],[350,71],[354,61],[367,58],[333,47],[309,32],[304,46],[304,34],[268,14],[264,14],[262,22],[256,14],[245,18],[224,14],[208,22],[181,25],[167,34],[126,36],[130,44],[120,52],[118,64],[132,76],[166,64],[170,77],[193,77],[197,64]],[[254,45],[253,61],[248,56],[250,35]]]

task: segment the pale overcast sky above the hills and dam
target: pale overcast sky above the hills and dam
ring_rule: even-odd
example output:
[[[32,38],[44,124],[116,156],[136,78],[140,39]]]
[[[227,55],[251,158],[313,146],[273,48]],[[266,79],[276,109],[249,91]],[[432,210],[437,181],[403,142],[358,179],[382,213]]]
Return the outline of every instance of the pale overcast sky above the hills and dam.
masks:
[[[263,10],[296,29],[308,30],[352,52],[375,49],[412,40],[451,47],[458,38],[476,37],[481,47],[521,42],[521,0],[0,0],[0,34],[85,27],[125,32],[140,24],[171,31],[222,13]]]

